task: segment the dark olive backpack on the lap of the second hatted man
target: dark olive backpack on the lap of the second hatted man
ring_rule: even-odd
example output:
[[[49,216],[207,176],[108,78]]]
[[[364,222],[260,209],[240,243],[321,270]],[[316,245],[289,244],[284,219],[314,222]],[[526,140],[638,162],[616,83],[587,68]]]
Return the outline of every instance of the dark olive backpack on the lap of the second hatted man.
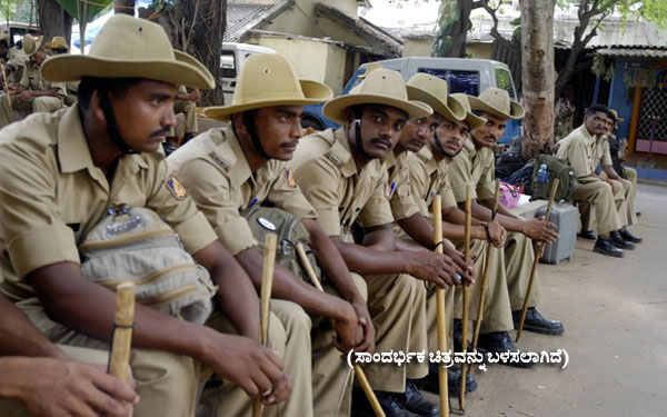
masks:
[[[303,246],[310,266],[320,280],[321,270],[317,265],[315,251],[310,248],[310,234],[306,227],[290,212],[275,207],[252,206],[241,211],[241,216],[248,220],[252,236],[259,242],[257,249],[263,254],[263,239],[267,234],[277,235],[276,262],[289,269],[303,281],[311,284],[306,269],[301,266],[297,256],[297,244]]]

